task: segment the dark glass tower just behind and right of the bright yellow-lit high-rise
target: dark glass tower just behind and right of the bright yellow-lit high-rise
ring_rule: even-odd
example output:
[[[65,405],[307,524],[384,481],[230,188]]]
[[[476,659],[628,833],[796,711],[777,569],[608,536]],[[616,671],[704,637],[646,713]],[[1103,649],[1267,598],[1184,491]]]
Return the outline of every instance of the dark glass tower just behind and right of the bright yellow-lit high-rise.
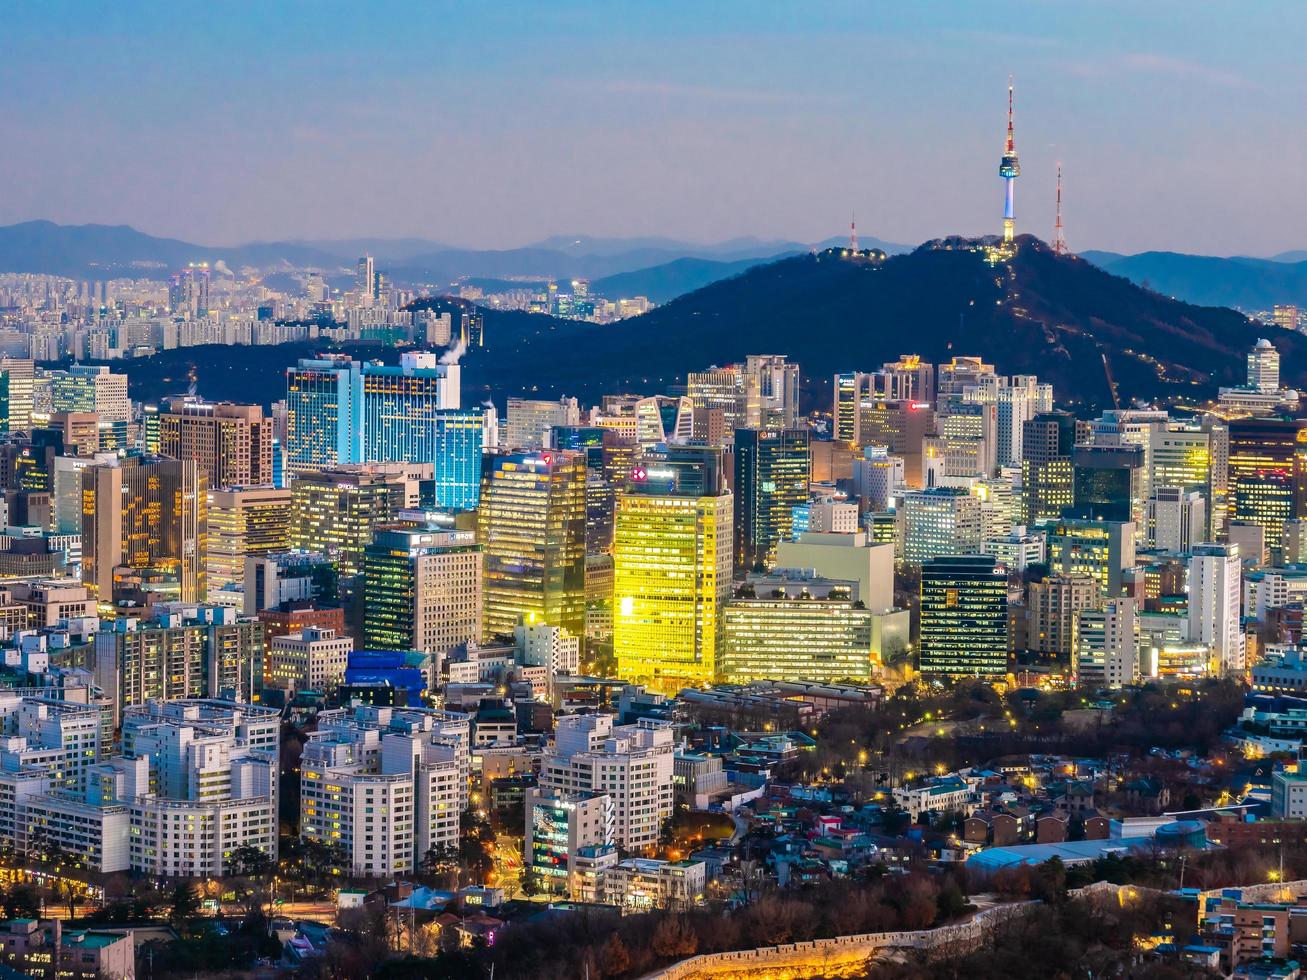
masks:
[[[735,443],[736,566],[766,570],[791,537],[793,508],[808,500],[806,429],[737,429]]]

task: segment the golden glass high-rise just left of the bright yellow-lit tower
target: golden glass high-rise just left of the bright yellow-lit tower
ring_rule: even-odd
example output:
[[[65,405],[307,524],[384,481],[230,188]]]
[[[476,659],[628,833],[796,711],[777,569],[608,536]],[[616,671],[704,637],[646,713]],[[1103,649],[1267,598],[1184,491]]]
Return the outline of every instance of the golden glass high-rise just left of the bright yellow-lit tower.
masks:
[[[521,623],[586,630],[586,456],[486,459],[477,538],[485,549],[485,636]]]

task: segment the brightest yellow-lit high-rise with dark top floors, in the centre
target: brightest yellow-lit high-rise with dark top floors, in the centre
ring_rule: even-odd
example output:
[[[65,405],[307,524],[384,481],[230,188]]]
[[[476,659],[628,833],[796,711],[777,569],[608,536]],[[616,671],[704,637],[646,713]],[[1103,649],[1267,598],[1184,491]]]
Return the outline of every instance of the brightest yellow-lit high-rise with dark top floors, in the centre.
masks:
[[[710,682],[731,592],[732,517],[720,459],[643,459],[617,502],[613,649],[618,676],[660,691]]]

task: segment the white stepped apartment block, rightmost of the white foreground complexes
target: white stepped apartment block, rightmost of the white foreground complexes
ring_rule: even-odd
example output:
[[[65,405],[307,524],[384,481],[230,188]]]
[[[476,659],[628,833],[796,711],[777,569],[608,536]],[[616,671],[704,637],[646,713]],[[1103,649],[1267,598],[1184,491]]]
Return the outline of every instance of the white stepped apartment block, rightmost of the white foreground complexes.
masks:
[[[606,793],[614,843],[627,851],[652,847],[672,815],[674,753],[670,723],[614,725],[612,715],[571,715],[558,720],[538,785],[561,796]]]

